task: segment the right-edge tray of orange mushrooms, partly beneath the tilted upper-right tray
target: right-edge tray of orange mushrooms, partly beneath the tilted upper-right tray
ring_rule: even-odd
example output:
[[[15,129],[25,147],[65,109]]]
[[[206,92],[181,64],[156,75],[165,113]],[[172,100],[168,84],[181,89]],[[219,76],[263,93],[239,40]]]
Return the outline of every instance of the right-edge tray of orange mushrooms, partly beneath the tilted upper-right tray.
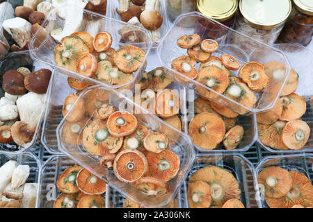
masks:
[[[257,114],[259,146],[271,153],[313,151],[313,53],[300,44],[275,44],[291,61],[291,73],[272,110]],[[273,69],[282,64],[273,63]]]

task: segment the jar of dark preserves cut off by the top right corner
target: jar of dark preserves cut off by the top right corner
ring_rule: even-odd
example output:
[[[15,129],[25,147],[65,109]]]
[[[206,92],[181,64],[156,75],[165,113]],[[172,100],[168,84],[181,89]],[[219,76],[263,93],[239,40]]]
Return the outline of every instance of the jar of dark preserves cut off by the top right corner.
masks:
[[[313,35],[313,0],[293,0],[293,5],[278,42],[298,42],[307,46]]]

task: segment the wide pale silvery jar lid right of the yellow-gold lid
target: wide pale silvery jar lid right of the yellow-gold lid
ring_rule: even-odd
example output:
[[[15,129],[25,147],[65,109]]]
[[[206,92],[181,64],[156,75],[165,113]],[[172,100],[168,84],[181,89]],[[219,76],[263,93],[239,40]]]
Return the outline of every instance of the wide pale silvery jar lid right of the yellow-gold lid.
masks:
[[[261,29],[284,24],[291,8],[290,0],[241,0],[239,3],[239,10],[245,21],[252,27]]]

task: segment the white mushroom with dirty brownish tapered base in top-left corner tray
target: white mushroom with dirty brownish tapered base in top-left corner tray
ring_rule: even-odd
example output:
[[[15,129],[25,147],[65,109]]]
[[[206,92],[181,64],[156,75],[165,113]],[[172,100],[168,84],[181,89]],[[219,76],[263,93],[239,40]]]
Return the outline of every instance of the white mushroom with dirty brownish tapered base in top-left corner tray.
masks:
[[[7,19],[3,28],[13,37],[22,49],[31,40],[31,23],[20,17]]]

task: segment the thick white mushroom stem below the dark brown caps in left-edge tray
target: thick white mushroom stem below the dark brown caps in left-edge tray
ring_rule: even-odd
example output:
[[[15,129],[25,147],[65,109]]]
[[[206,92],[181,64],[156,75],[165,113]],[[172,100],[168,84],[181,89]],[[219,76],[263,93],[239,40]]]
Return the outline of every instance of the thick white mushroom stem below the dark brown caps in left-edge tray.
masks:
[[[30,128],[37,125],[42,106],[44,105],[45,94],[29,92],[24,94],[16,101],[19,119],[28,123]]]

